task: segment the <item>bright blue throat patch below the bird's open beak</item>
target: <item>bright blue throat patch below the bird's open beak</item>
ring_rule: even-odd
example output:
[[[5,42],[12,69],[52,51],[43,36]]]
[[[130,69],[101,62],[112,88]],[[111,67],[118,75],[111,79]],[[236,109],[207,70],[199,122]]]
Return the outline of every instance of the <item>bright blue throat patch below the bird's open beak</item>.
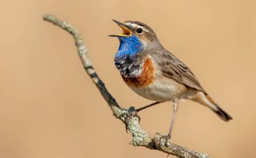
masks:
[[[118,37],[120,46],[115,58],[120,57],[135,57],[135,54],[142,50],[142,43],[138,37],[132,35],[130,37]]]

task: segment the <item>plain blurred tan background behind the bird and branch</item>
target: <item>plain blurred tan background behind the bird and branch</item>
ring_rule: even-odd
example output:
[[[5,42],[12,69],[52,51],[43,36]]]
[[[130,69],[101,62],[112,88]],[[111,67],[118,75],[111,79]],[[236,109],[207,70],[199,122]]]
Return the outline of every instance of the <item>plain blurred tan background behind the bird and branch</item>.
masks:
[[[213,157],[256,157],[255,7],[249,0],[1,0],[0,157],[167,156],[128,144],[131,136],[84,72],[73,39],[44,22],[44,13],[79,29],[96,71],[123,107],[152,101],[133,93],[115,70],[118,40],[107,35],[121,30],[111,19],[152,26],[234,118],[225,123],[199,104],[181,102],[171,141]],[[166,134],[171,112],[171,103],[147,109],[141,126]]]

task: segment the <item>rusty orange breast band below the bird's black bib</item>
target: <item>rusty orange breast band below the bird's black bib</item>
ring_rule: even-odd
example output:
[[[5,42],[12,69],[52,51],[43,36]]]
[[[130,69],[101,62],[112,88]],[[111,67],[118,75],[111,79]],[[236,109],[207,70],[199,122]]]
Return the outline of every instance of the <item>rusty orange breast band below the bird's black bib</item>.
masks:
[[[154,82],[155,71],[154,63],[152,62],[151,57],[146,57],[141,69],[141,73],[138,76],[127,77],[122,75],[124,82],[131,87],[144,87],[151,85]]]

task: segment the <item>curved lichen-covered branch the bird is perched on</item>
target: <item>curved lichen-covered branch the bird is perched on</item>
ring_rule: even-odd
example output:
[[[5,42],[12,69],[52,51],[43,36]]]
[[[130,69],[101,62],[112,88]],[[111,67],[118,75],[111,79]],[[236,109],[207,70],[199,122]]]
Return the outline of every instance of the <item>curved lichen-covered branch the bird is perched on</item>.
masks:
[[[69,32],[73,37],[74,41],[77,46],[78,55],[80,60],[82,61],[82,65],[85,68],[85,71],[90,76],[90,79],[93,80],[96,87],[99,89],[99,92],[102,94],[105,101],[113,111],[113,115],[115,118],[118,118],[123,123],[126,124],[127,130],[132,134],[132,141],[131,144],[133,146],[144,146],[146,148],[163,151],[167,154],[174,155],[176,157],[184,157],[184,158],[210,158],[207,154],[199,153],[196,151],[192,151],[188,148],[184,148],[182,146],[177,146],[174,143],[170,143],[170,146],[165,146],[165,140],[161,139],[163,135],[157,133],[154,134],[154,137],[149,137],[149,134],[139,125],[140,118],[138,115],[130,115],[131,112],[135,112],[135,109],[130,107],[129,109],[124,109],[118,105],[115,101],[115,98],[108,92],[107,88],[104,86],[104,83],[99,76],[97,75],[96,71],[94,71],[93,65],[88,58],[88,50],[85,47],[85,44],[82,41],[82,36],[79,34],[74,26],[68,24],[65,21],[61,21],[58,18],[54,17],[54,15],[44,15],[44,21],[49,21],[51,24],[56,26],[60,26],[60,28],[64,29],[65,31]]]

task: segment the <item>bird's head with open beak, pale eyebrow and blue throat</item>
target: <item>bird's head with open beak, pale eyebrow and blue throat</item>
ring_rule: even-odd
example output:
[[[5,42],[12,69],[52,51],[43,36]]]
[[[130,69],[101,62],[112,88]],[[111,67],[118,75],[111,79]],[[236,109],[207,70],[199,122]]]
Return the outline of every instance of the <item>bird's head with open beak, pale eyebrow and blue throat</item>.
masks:
[[[113,21],[123,30],[119,35],[110,35],[120,40],[117,56],[136,54],[143,49],[151,49],[159,43],[153,29],[146,24],[139,21],[124,21],[124,23]]]

